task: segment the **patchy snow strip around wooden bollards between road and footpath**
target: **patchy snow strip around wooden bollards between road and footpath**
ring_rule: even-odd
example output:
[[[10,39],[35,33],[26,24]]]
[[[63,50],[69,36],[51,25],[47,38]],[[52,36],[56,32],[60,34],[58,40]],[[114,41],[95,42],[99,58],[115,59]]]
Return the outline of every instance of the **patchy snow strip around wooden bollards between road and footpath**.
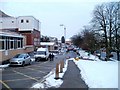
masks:
[[[68,60],[63,68],[63,73],[59,73],[59,78],[62,78],[65,71],[67,70]],[[46,75],[40,82],[35,83],[31,88],[58,88],[63,83],[62,79],[55,78],[55,69],[53,69],[48,75]]]

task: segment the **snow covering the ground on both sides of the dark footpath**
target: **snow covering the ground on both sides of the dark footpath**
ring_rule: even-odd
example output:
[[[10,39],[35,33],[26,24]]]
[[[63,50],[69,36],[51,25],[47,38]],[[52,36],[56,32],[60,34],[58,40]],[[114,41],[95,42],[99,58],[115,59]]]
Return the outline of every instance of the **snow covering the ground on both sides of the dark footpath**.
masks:
[[[98,57],[85,51],[80,51],[80,55],[91,60],[72,59],[77,67],[81,70],[82,79],[89,88],[118,88],[118,61],[101,61]],[[68,59],[71,60],[71,59]],[[66,61],[68,61],[66,60]],[[68,62],[66,62],[68,64]],[[67,70],[67,64],[64,72]],[[62,78],[64,73],[60,73]],[[55,69],[43,78],[40,83],[35,83],[32,88],[58,88],[63,83],[61,79],[55,78]]]

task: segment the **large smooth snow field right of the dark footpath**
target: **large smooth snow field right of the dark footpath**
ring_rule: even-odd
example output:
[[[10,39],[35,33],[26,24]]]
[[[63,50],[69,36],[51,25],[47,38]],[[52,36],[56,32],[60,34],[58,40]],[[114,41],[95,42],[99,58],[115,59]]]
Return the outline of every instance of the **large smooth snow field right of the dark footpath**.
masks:
[[[75,64],[89,88],[118,88],[118,62],[79,60]]]

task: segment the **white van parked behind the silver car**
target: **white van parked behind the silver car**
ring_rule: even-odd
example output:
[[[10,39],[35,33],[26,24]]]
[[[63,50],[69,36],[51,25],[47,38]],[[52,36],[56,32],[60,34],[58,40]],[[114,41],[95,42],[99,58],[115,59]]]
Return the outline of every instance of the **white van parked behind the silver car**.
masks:
[[[34,57],[35,57],[35,61],[48,60],[49,58],[48,48],[38,48]]]

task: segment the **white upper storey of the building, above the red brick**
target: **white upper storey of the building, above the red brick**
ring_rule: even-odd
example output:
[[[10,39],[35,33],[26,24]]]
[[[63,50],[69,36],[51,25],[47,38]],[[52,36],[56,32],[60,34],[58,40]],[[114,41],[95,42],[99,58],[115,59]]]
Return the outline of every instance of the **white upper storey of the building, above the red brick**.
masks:
[[[16,29],[19,31],[40,31],[40,22],[33,16],[0,17],[0,29]]]

